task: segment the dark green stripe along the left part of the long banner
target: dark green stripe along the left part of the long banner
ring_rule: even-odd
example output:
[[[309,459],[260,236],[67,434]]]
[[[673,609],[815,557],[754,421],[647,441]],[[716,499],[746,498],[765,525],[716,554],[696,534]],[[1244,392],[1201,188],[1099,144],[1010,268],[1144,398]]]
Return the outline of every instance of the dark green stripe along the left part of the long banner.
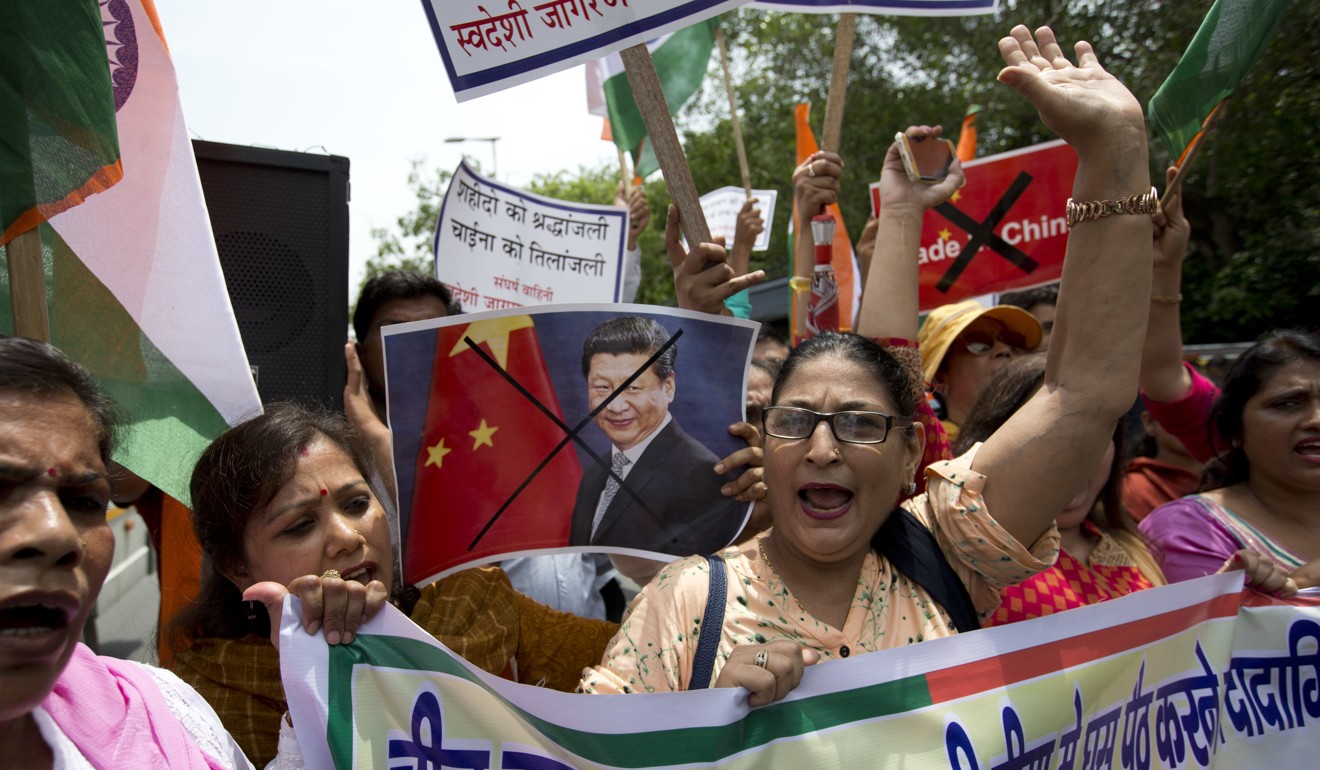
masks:
[[[326,741],[335,767],[352,766],[355,734],[352,670],[362,664],[429,671],[477,684],[558,746],[583,759],[615,767],[709,765],[784,738],[932,705],[925,676],[917,675],[762,707],[748,713],[739,722],[738,730],[730,730],[726,725],[713,725],[610,734],[566,728],[523,711],[477,678],[453,655],[434,645],[403,637],[359,635],[352,645],[330,646],[329,654],[330,697]]]

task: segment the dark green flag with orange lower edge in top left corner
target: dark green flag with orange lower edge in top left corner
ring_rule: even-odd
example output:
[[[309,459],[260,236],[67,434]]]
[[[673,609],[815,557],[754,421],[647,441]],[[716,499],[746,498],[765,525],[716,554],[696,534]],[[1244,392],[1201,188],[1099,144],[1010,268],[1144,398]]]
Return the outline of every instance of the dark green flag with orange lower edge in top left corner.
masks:
[[[92,0],[0,4],[0,247],[123,177]]]

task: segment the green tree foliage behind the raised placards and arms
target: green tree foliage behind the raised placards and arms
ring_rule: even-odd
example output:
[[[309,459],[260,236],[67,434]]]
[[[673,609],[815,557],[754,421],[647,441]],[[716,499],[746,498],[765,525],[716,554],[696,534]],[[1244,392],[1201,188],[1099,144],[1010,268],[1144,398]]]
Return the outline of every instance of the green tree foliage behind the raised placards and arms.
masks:
[[[956,139],[968,104],[982,104],[978,155],[1053,136],[995,75],[994,42],[1012,24],[1049,24],[1061,41],[1094,44],[1106,69],[1143,103],[1177,63],[1209,0],[1016,0],[995,16],[859,16],[841,153],[847,164],[841,206],[854,239],[870,210],[895,131],[941,124]],[[793,104],[813,104],[817,133],[833,57],[834,16],[726,16],[735,91],[754,186],[774,186],[771,250],[752,267],[789,269],[787,236],[795,165]],[[1278,37],[1229,104],[1184,182],[1193,248],[1185,263],[1184,332],[1189,342],[1251,339],[1275,326],[1313,326],[1320,300],[1320,4],[1295,3]],[[680,115],[701,190],[738,178],[727,100],[713,62],[701,98]],[[1154,141],[1154,140],[1152,140]],[[1152,178],[1167,149],[1151,147]],[[1159,186],[1163,188],[1163,184]]]

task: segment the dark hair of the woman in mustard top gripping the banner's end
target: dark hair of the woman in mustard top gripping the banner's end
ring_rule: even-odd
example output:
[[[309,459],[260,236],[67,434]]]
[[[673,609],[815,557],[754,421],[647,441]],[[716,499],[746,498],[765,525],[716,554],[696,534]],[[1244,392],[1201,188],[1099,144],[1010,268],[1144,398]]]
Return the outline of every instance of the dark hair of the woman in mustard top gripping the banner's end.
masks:
[[[172,647],[180,650],[202,637],[269,635],[265,610],[248,621],[242,592],[223,573],[247,565],[243,535],[248,520],[293,478],[298,450],[317,438],[343,449],[366,478],[372,477],[370,449],[343,416],[293,403],[271,404],[264,415],[220,433],[202,452],[189,487],[193,531],[202,547],[202,585],[170,622],[166,641]]]

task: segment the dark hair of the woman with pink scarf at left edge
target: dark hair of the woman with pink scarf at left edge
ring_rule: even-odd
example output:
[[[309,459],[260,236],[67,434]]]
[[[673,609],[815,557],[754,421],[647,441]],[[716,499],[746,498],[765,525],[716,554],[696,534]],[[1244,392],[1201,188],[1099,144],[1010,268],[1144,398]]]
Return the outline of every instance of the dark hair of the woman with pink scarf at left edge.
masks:
[[[25,337],[0,334],[0,394],[41,398],[74,396],[96,431],[100,460],[110,465],[123,416],[119,405],[86,368],[58,347]]]

